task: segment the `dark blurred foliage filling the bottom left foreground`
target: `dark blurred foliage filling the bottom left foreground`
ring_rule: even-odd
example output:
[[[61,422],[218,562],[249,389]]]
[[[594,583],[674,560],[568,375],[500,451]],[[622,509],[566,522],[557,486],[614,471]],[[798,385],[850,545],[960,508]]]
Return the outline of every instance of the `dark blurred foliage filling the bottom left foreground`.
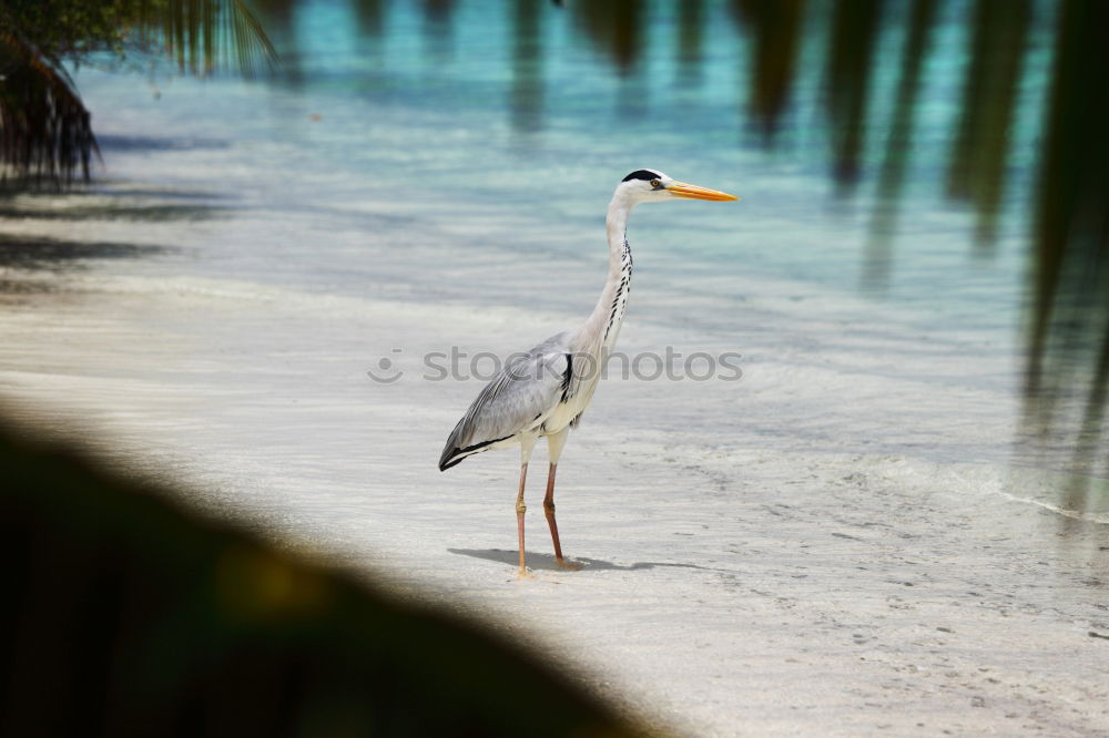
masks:
[[[0,735],[643,735],[535,656],[0,437]]]

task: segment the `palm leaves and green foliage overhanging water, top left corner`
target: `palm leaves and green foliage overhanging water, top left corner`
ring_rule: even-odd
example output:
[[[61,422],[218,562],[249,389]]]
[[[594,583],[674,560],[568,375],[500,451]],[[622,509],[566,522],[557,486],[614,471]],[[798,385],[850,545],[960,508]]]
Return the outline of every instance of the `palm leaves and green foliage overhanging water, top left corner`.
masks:
[[[226,65],[250,76],[277,58],[243,0],[0,2],[0,183],[89,178],[96,140],[65,64],[129,50],[163,53],[194,74]]]

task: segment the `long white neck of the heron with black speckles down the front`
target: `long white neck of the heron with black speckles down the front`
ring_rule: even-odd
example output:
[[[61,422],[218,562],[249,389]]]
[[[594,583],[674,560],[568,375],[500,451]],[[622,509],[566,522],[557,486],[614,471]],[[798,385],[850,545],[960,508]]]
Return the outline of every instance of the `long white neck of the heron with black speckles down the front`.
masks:
[[[623,322],[632,266],[627,238],[628,216],[634,206],[635,202],[620,189],[609,203],[609,213],[604,218],[609,239],[609,275],[597,299],[597,307],[576,336],[576,349],[589,351],[598,358],[602,358],[602,349],[610,351],[615,346],[620,324]]]

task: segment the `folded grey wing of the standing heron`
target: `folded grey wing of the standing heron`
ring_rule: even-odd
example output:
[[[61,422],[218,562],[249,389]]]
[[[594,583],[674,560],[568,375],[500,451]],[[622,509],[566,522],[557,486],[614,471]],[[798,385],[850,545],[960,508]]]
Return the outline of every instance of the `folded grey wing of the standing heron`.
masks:
[[[553,336],[505,363],[447,438],[440,471],[542,423],[558,406],[570,377],[563,338],[562,334]]]

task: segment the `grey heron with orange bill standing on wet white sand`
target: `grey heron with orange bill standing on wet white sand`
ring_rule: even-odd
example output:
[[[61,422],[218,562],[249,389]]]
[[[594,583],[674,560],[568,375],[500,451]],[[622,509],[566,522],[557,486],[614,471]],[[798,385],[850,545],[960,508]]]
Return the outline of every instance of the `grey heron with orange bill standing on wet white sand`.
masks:
[[[550,468],[543,513],[554,543],[554,560],[578,568],[562,557],[554,521],[554,471],[567,435],[589,407],[609,353],[615,346],[631,287],[631,247],[628,216],[640,203],[671,198],[731,201],[726,193],[678,182],[655,170],[637,170],[625,176],[609,203],[604,219],[609,240],[609,275],[597,307],[577,330],[551,336],[527,353],[506,361],[499,375],[478,394],[439,457],[446,471],[467,457],[508,447],[520,447],[520,488],[516,519],[520,540],[520,575],[527,574],[523,553],[523,490],[528,461],[540,437],[547,438]]]

